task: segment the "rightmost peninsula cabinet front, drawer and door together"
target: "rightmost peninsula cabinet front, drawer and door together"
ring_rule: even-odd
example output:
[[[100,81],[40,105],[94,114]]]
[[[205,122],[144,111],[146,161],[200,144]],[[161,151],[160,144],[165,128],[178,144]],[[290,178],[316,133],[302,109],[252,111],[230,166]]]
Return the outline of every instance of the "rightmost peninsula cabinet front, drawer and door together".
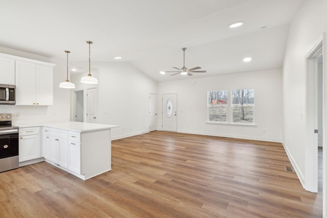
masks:
[[[68,132],[68,169],[81,174],[81,142],[78,132]]]

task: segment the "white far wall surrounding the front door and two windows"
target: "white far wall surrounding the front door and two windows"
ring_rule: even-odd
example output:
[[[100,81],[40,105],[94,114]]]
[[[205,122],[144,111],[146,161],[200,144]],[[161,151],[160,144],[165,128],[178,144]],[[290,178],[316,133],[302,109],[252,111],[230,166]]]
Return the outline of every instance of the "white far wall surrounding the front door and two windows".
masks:
[[[232,89],[245,88],[254,88],[257,126],[206,124],[208,90],[228,90],[230,94]],[[177,93],[178,132],[267,141],[282,139],[282,69],[160,82],[158,127],[162,125],[161,97],[165,93]]]

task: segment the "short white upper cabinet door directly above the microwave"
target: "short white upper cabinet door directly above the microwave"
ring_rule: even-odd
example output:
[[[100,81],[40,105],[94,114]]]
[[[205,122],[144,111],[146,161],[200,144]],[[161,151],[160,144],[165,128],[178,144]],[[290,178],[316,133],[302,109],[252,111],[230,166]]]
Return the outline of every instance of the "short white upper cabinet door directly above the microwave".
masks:
[[[15,60],[0,57],[0,84],[15,85]]]

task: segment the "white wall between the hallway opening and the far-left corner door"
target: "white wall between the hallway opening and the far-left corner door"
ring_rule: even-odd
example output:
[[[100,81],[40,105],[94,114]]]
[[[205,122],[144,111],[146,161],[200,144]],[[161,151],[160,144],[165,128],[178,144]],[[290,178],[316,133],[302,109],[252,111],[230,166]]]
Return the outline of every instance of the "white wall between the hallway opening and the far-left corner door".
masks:
[[[92,63],[92,68],[99,80],[97,122],[120,126],[112,129],[114,139],[148,132],[149,94],[157,93],[157,83],[128,63]],[[79,75],[72,78],[80,84]]]

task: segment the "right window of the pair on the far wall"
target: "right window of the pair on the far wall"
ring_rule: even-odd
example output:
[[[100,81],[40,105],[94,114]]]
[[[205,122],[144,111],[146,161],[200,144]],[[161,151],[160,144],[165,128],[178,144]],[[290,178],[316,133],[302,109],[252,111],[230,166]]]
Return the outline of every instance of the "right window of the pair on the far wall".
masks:
[[[232,123],[254,123],[254,89],[231,90]]]

